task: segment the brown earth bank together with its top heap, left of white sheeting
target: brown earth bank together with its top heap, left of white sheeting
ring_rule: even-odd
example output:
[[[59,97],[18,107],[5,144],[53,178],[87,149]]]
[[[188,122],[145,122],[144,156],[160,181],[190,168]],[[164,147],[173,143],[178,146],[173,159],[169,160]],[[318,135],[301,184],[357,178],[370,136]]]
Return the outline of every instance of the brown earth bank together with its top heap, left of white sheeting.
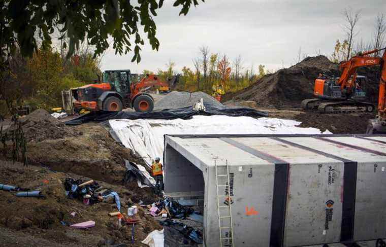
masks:
[[[121,183],[126,170],[125,159],[145,164],[131,150],[117,143],[102,124],[66,126],[47,114],[37,110],[21,118],[29,164],[71,171],[112,184]],[[7,153],[8,158],[11,155]]]

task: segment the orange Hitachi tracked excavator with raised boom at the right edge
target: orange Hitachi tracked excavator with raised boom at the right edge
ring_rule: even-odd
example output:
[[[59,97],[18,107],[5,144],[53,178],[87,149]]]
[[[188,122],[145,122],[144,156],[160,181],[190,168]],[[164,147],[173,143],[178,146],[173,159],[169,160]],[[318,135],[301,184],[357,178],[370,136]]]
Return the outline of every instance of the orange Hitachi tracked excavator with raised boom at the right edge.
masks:
[[[384,50],[381,57],[369,56]],[[315,80],[316,98],[302,101],[304,109],[315,109],[321,113],[372,112],[373,104],[365,102],[365,92],[360,85],[365,77],[357,76],[357,69],[364,66],[380,65],[377,119],[370,120],[368,133],[386,133],[386,48],[358,53],[342,62],[340,78],[321,76]]]

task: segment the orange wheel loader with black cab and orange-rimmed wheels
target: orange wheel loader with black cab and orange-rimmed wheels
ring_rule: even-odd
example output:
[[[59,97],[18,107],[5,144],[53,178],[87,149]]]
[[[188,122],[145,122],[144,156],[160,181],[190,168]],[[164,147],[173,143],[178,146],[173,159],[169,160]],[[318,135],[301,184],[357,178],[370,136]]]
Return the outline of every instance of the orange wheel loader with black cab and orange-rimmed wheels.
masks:
[[[102,83],[72,88],[75,110],[121,111],[123,108],[134,108],[137,112],[151,112],[154,108],[154,99],[146,90],[155,87],[174,88],[179,76],[172,78],[168,83],[155,75],[147,75],[138,83],[132,83],[130,78],[129,69],[106,70],[103,73]]]

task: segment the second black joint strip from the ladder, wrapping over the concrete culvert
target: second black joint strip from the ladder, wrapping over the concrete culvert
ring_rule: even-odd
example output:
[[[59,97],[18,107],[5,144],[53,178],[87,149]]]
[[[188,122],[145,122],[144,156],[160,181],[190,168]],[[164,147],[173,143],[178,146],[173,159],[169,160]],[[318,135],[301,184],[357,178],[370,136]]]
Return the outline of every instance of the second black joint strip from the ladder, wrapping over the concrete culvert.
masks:
[[[358,163],[336,155],[325,153],[323,151],[312,149],[307,146],[289,142],[288,140],[284,140],[278,137],[271,137],[271,138],[289,146],[307,150],[316,154],[323,155],[325,157],[329,157],[329,158],[344,162],[342,224],[341,224],[341,231],[340,231],[340,241],[351,242],[354,234],[355,198],[356,198],[356,192],[357,192],[356,188],[357,188]]]

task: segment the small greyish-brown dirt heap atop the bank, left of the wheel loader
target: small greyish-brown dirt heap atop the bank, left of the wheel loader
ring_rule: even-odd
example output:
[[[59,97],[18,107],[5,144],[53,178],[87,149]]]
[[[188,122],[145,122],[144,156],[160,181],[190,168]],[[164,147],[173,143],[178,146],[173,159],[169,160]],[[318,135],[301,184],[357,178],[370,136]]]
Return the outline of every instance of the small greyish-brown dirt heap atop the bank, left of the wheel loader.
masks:
[[[77,136],[81,132],[66,126],[47,111],[38,109],[20,119],[26,142],[41,142],[46,139],[62,139]]]

